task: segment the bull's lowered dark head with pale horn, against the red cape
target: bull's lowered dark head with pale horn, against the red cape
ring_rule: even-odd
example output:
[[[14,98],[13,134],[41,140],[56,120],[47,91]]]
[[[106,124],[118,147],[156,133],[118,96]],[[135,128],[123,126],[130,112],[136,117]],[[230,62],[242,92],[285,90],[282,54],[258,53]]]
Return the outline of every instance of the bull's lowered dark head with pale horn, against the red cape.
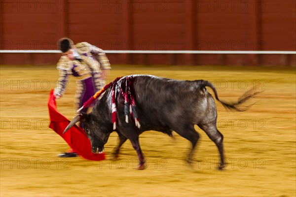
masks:
[[[106,124],[100,123],[99,118],[95,118],[91,113],[82,113],[75,116],[63,133],[67,132],[80,120],[82,120],[84,131],[91,142],[92,152],[97,154],[103,153],[104,145],[107,143],[111,132]]]

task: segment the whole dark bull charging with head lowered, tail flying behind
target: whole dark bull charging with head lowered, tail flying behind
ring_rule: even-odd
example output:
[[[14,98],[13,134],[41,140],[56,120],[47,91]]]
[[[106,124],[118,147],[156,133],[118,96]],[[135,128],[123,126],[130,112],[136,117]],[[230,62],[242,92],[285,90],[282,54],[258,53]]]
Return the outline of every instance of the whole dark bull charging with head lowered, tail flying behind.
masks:
[[[133,77],[132,90],[135,94],[136,112],[141,124],[138,128],[134,120],[129,117],[128,123],[124,116],[124,98],[120,94],[121,83],[126,77]],[[199,139],[194,125],[206,132],[215,142],[220,153],[220,169],[225,165],[223,157],[223,135],[216,127],[217,109],[212,95],[206,87],[210,87],[215,98],[225,108],[244,111],[247,108],[238,108],[238,105],[252,98],[258,92],[248,91],[235,103],[228,103],[218,98],[213,84],[205,80],[183,81],[161,78],[151,75],[131,75],[122,77],[116,84],[117,126],[116,132],[119,143],[114,148],[113,158],[117,159],[121,145],[129,139],[137,151],[140,161],[138,169],[145,168],[145,158],[142,153],[139,135],[144,131],[161,131],[172,136],[172,131],[189,140],[192,147],[186,159],[192,163],[194,148]],[[111,88],[102,99],[98,100],[89,114],[77,115],[66,128],[68,131],[76,122],[83,119],[84,130],[90,139],[92,151],[104,151],[104,145],[113,131],[111,121]]]

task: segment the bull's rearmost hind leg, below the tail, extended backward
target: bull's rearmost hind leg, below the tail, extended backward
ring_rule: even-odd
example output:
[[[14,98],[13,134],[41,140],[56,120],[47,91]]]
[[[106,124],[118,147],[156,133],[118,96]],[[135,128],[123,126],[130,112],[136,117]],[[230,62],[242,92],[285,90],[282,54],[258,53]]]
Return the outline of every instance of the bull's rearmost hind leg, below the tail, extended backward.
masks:
[[[215,142],[216,146],[218,147],[219,153],[220,153],[220,166],[219,169],[223,169],[225,167],[224,163],[224,153],[223,153],[223,135],[220,131],[218,131],[216,127],[216,123],[210,123],[210,124],[198,124],[198,127],[205,131],[207,135],[210,137],[210,139]]]

